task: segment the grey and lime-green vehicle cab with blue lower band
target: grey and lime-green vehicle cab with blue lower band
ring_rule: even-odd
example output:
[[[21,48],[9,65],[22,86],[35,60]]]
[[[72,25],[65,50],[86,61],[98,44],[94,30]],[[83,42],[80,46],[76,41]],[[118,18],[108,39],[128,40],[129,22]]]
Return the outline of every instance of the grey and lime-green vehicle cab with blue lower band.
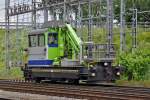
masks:
[[[50,67],[60,55],[58,33],[38,30],[29,33],[28,66]]]

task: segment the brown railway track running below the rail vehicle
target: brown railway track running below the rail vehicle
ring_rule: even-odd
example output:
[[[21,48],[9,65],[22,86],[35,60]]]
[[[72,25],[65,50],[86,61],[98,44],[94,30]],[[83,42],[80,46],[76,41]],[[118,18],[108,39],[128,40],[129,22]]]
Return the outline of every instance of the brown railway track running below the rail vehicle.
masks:
[[[150,100],[150,89],[0,81],[0,89],[88,100]]]

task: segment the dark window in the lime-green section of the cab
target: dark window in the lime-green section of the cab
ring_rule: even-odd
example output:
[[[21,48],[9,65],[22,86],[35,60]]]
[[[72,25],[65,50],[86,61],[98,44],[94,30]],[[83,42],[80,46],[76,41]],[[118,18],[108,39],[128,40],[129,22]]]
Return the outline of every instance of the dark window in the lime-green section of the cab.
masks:
[[[58,44],[58,34],[57,33],[49,33],[48,44],[49,45]]]

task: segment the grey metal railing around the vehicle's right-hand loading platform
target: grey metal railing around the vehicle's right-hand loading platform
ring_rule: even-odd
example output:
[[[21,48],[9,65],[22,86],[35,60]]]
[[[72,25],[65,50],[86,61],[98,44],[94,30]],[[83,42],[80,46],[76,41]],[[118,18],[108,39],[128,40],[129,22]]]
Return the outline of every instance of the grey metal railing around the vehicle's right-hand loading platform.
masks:
[[[90,42],[82,45],[82,60],[86,61],[112,61],[115,59],[115,44],[93,44]]]

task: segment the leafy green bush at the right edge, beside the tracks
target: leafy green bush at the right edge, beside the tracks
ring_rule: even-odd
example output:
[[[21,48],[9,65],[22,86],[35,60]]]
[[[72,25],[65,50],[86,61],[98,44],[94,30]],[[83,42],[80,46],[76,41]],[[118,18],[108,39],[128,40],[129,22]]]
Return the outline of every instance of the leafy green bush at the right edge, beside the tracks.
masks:
[[[150,32],[139,33],[138,47],[118,56],[125,67],[122,80],[150,80]]]

